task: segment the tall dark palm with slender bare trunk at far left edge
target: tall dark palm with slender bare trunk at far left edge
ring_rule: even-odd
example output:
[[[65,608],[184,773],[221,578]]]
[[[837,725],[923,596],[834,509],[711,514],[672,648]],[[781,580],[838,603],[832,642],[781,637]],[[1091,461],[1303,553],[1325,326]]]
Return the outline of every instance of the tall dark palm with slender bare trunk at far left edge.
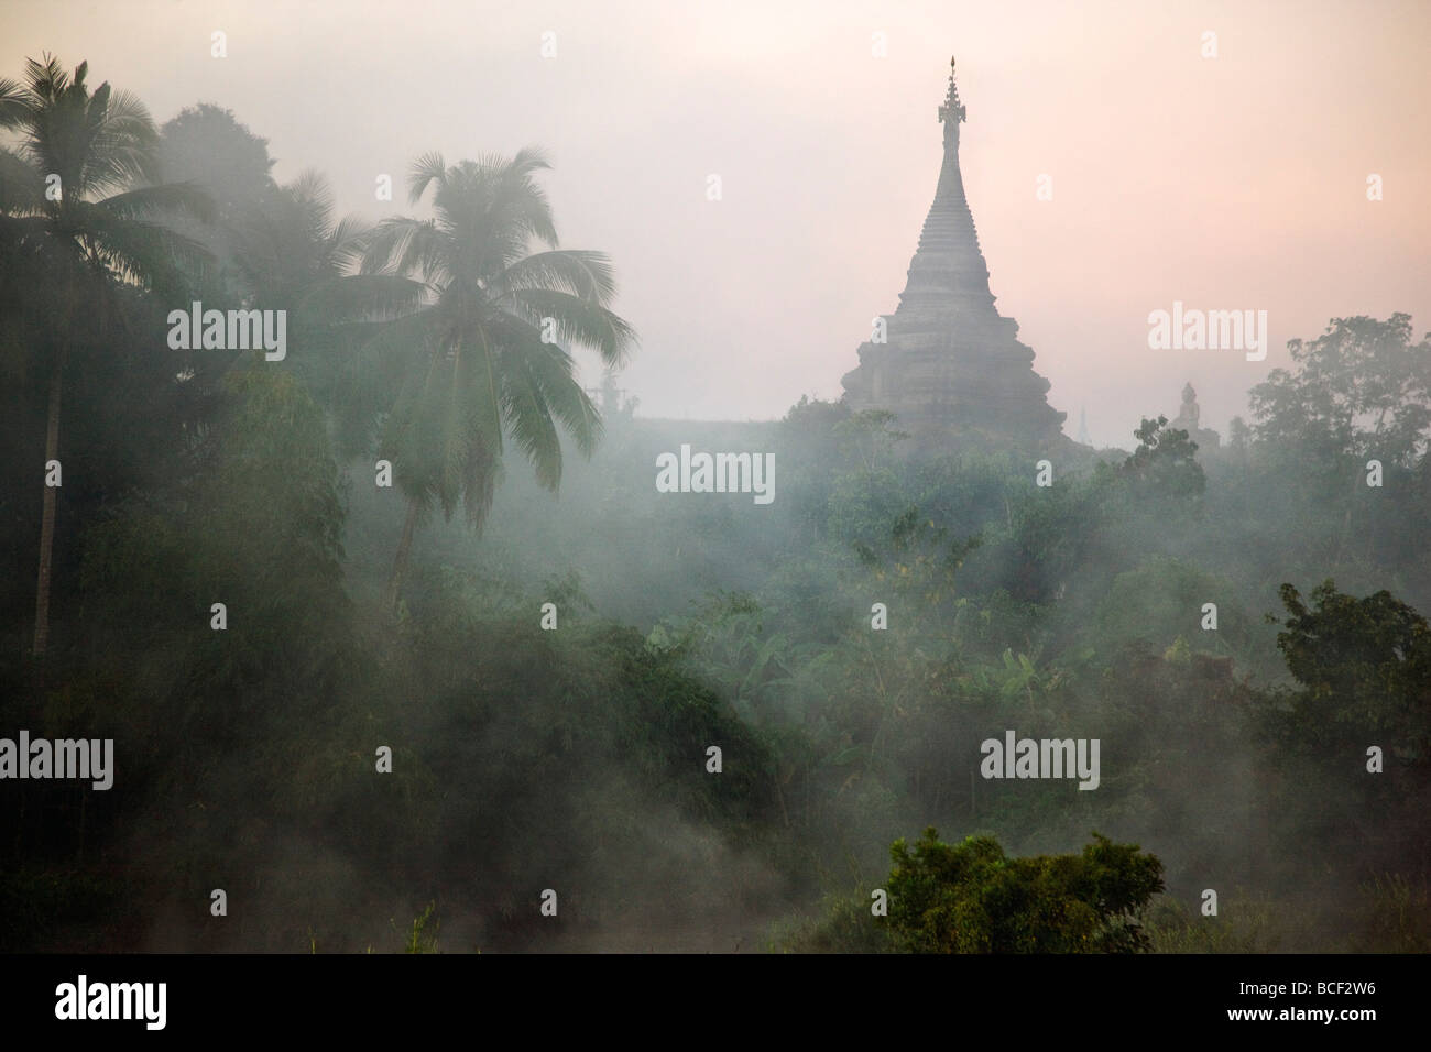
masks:
[[[74,354],[97,348],[122,325],[119,283],[185,299],[185,273],[205,252],[153,219],[173,209],[210,218],[213,205],[192,186],[157,185],[157,132],[135,96],[107,83],[92,93],[89,63],[67,74],[44,56],[26,63],[24,83],[0,79],[0,129],[19,132],[0,149],[0,240],[4,255],[27,259],[24,278],[47,309],[47,338],[33,348],[49,375],[44,458],[59,458],[60,395]],[[163,346],[160,342],[159,346]],[[34,654],[50,634],[50,565],[56,491],[44,487],[40,573],[34,601]]]

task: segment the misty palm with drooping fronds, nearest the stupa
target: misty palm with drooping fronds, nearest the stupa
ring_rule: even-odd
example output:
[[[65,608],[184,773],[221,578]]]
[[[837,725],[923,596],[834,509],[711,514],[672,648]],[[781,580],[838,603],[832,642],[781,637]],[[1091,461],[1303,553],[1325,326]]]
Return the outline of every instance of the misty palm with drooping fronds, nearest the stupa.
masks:
[[[547,167],[534,149],[451,167],[438,153],[419,157],[409,202],[435,187],[434,218],[379,223],[351,279],[358,301],[398,316],[368,345],[372,375],[395,391],[379,451],[408,498],[389,608],[414,531],[434,505],[451,518],[462,504],[481,527],[504,439],[552,491],[562,467],[558,425],[584,455],[595,448],[601,418],[564,345],[594,348],[617,368],[635,342],[631,326],[608,309],[615,279],[607,256],[557,248],[547,195],[534,182]],[[529,252],[534,242],[545,250]]]

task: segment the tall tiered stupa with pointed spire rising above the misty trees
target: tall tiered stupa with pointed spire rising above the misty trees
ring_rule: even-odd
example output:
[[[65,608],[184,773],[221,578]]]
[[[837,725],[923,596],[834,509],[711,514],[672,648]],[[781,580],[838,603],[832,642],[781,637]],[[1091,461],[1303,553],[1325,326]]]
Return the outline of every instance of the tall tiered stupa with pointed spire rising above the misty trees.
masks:
[[[1033,371],[1033,351],[1019,342],[1019,325],[1002,318],[989,291],[989,268],[959,172],[959,125],[964,106],[950,60],[949,94],[939,107],[944,165],[909,282],[887,342],[860,346],[860,365],[846,374],[853,409],[890,409],[896,427],[917,445],[942,445],[959,434],[1015,439],[1020,445],[1060,441],[1065,414],[1045,399],[1049,382]]]

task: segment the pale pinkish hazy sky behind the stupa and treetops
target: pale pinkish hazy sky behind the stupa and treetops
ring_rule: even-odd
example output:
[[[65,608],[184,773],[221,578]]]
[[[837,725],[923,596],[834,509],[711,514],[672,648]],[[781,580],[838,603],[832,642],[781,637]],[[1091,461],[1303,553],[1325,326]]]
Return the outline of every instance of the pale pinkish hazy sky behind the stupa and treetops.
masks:
[[[1191,379],[1226,438],[1286,339],[1394,311],[1431,328],[1425,1],[0,0],[0,76],[87,59],[156,122],[226,106],[279,180],[318,167],[373,219],[408,210],[418,153],[544,146],[562,245],[615,262],[643,415],[840,395],[933,199],[950,54],[990,286],[1069,434],[1086,406],[1096,442],[1132,445]],[[1151,351],[1175,299],[1268,311],[1272,352]]]

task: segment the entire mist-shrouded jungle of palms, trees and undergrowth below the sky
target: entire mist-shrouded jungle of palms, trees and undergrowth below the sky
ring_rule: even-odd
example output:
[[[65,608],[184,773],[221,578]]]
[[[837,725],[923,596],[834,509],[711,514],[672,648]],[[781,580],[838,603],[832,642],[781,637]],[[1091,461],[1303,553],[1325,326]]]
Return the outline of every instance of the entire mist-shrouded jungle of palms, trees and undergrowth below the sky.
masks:
[[[633,333],[539,155],[422,157],[432,219],[369,225],[86,73],[0,82],[0,737],[117,770],[0,783],[0,949],[1428,945],[1405,315],[1294,342],[1222,448],[598,415],[570,351]],[[193,298],[288,311],[286,358],[169,348]],[[683,442],[776,501],[655,492]],[[980,777],[1010,730],[1099,740],[1096,792]]]

